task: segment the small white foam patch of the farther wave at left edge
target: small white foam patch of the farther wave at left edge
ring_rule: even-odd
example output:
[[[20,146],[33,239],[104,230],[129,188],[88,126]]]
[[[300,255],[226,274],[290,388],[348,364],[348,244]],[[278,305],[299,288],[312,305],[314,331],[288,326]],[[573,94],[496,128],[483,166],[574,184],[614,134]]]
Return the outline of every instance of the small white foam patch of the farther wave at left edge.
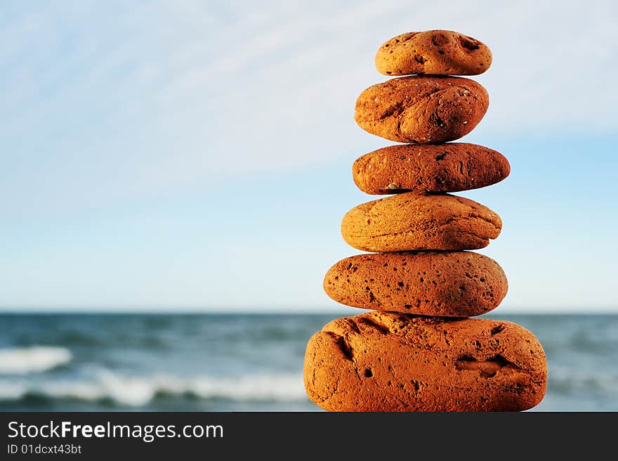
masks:
[[[0,349],[0,375],[41,373],[71,361],[69,349],[53,346],[32,346]]]

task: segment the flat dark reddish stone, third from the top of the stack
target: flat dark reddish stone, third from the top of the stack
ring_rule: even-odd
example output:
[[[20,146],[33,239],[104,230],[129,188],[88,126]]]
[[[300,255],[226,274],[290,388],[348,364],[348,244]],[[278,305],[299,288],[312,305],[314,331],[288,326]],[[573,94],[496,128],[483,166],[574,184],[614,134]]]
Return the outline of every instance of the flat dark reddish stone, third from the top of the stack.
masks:
[[[490,186],[510,172],[500,152],[470,143],[390,145],[352,167],[355,184],[368,194],[458,192]]]

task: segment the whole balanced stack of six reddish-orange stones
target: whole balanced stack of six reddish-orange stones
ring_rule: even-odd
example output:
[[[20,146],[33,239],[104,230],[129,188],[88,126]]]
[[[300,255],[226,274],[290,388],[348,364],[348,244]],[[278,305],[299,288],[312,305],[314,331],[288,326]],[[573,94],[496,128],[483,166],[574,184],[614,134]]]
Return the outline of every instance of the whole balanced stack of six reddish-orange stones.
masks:
[[[352,247],[372,252],[339,261],[324,278],[329,297],[372,309],[338,318],[310,339],[305,389],[331,411],[518,411],[541,401],[545,353],[515,323],[469,318],[506,295],[496,261],[475,252],[497,238],[500,217],[449,193],[506,178],[495,150],[448,143],[470,132],[489,99],[475,75],[489,48],[457,32],[410,32],[379,48],[390,79],[363,91],[355,119],[400,145],[354,162],[356,185],[395,194],[360,204],[341,223]]]

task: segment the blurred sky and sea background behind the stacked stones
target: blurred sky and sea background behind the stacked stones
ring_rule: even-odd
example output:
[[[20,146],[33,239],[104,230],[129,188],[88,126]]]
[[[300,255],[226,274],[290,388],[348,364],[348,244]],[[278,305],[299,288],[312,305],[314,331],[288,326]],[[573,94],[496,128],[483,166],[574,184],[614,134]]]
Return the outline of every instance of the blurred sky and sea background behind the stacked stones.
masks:
[[[464,142],[511,176],[492,318],[548,356],[536,410],[618,410],[612,1],[3,1],[0,410],[317,410],[305,344],[373,200],[351,164],[374,53],[413,30],[492,49]]]

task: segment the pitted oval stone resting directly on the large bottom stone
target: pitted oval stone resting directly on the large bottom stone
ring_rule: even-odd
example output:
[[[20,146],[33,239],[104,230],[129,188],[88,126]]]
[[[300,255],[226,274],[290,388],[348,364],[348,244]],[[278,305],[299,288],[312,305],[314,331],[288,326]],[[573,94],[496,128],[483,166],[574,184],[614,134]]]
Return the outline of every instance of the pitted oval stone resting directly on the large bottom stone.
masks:
[[[498,263],[474,252],[357,254],[324,276],[324,291],[341,304],[423,316],[480,316],[507,290]]]

